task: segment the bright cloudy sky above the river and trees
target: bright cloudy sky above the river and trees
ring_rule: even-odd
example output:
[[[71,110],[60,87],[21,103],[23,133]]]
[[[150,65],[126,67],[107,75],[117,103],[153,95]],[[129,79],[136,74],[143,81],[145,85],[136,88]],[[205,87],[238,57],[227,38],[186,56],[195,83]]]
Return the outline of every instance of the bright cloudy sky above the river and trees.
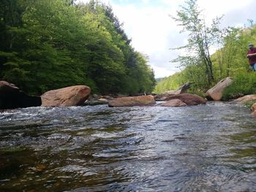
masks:
[[[87,2],[89,0],[78,0]],[[173,50],[187,44],[186,34],[170,18],[181,10],[185,0],[100,0],[113,8],[132,47],[140,53],[148,55],[148,64],[154,70],[156,78],[168,77],[180,72],[173,59],[184,50]],[[249,26],[247,19],[256,22],[255,0],[197,0],[203,10],[206,22],[223,16],[222,27]],[[256,42],[254,42],[256,43]]]

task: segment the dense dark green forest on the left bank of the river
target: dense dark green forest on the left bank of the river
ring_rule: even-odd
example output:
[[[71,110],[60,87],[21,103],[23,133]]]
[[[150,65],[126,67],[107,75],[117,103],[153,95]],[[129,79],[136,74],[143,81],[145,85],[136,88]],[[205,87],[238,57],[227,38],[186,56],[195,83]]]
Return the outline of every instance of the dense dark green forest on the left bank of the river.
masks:
[[[146,58],[98,1],[3,0],[0,34],[0,79],[28,93],[69,85],[102,94],[154,88]]]

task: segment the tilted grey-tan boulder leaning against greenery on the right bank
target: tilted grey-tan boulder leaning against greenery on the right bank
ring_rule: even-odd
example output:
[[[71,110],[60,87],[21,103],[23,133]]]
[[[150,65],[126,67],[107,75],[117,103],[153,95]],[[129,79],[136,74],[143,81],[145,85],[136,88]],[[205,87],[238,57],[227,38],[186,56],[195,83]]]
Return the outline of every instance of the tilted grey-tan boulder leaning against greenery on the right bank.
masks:
[[[223,92],[225,88],[231,85],[233,80],[231,77],[226,77],[224,80],[221,80],[213,88],[210,88],[206,91],[206,98],[208,100],[219,101],[222,99]]]

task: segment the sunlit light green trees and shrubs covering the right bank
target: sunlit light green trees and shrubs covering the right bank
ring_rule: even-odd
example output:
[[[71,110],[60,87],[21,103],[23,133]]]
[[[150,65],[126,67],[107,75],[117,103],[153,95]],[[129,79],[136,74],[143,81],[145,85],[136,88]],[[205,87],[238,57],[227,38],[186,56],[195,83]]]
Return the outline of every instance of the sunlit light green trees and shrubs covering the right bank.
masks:
[[[197,6],[196,0],[187,1],[186,7],[181,7],[173,16],[181,32],[188,34],[188,43],[184,47],[186,55],[179,55],[173,60],[178,63],[181,72],[165,77],[154,90],[154,93],[175,90],[186,82],[192,83],[190,93],[204,96],[204,93],[225,77],[232,77],[223,99],[255,94],[256,72],[250,69],[246,58],[248,45],[256,45],[256,25],[248,19],[243,27],[220,27],[222,17],[214,18],[206,25],[203,12]]]

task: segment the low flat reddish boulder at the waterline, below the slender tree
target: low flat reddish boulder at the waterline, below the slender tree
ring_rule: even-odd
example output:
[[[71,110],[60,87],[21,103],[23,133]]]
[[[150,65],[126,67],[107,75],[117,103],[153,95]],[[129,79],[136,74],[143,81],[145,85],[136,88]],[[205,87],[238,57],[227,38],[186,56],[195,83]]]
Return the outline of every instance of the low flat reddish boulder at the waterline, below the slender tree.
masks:
[[[206,99],[189,93],[182,93],[177,96],[170,96],[167,99],[165,99],[165,101],[170,101],[172,99],[179,99],[187,105],[206,104]]]

